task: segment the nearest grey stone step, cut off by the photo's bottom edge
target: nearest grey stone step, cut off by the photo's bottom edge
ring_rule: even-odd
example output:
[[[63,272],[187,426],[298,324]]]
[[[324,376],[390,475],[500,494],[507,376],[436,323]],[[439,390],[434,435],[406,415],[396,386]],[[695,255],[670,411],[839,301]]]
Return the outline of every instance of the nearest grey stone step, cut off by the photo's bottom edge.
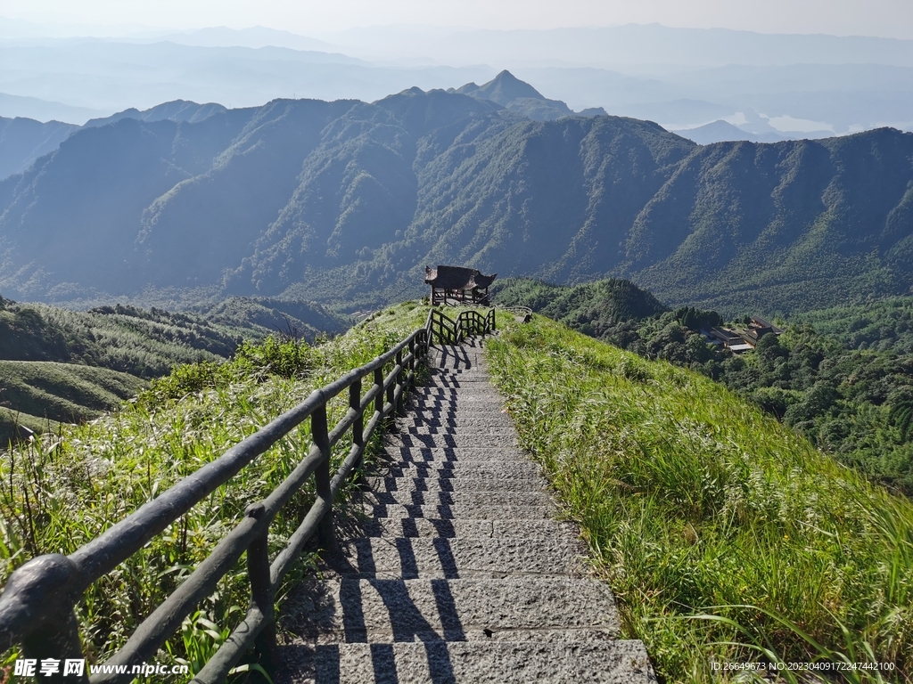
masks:
[[[291,645],[281,652],[281,684],[656,682],[644,644],[629,640]]]

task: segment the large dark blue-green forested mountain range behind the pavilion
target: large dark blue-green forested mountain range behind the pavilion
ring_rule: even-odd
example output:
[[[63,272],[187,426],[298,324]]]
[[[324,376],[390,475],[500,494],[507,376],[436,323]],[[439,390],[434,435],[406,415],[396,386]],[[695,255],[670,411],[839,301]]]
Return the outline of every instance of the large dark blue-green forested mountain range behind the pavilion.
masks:
[[[538,93],[509,73],[460,89],[78,130],[0,181],[0,293],[354,308],[465,264],[771,312],[913,285],[913,134],[698,146],[636,119],[530,119],[518,100]]]

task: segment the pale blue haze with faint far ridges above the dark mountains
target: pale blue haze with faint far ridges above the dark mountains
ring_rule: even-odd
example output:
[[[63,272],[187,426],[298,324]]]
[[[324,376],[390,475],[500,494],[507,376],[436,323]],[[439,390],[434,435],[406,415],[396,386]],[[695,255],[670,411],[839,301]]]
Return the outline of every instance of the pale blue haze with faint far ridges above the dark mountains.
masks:
[[[913,41],[666,26],[547,31],[374,26],[322,36],[254,27],[130,38],[27,37],[0,19],[0,116],[82,123],[173,99],[383,98],[509,68],[571,109],[666,129],[724,119],[746,137],[913,127]],[[29,99],[30,98],[30,99]],[[41,105],[44,102],[44,105]]]

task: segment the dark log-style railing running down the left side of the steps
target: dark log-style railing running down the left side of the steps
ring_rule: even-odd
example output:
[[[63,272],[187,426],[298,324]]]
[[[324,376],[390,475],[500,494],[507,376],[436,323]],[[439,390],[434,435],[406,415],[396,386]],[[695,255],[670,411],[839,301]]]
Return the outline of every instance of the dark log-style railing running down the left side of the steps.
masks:
[[[275,594],[304,545],[316,534],[321,545],[334,544],[332,502],[344,482],[362,461],[364,445],[374,430],[394,414],[404,412],[405,394],[415,384],[417,364],[424,361],[435,342],[459,344],[468,335],[485,335],[495,330],[495,310],[483,316],[469,309],[456,319],[431,308],[425,327],[405,337],[390,351],[361,368],[354,368],[329,385],[315,389],[294,409],[287,411],[245,440],[238,442],[215,461],[177,482],[156,499],[142,505],[120,523],[72,554],[40,555],[17,568],[0,595],[0,651],[19,644],[27,658],[85,658],[79,639],[75,607],[83,593],[101,576],[107,575],[136,554],[152,537],[187,513],[196,503],[231,480],[290,430],[310,418],[312,445],[308,454],[284,482],[266,499],[247,506],[236,527],[215,545],[212,553],[196,565],[181,586],[168,596],[105,666],[107,673],[89,679],[64,676],[63,668],[42,678],[48,682],[130,682],[137,672],[131,667],[152,660],[158,649],[181,627],[184,617],[215,591],[215,586],[247,552],[250,606],[247,615],[225,643],[194,677],[194,684],[218,684],[250,648],[257,649],[260,665],[269,671],[276,646]],[[394,367],[384,376],[383,368]],[[373,384],[362,395],[362,378]],[[327,403],[349,390],[349,409],[329,430]],[[373,412],[364,425],[365,412]],[[331,450],[346,430],[352,430],[352,449],[339,470],[331,476]],[[279,509],[314,476],[316,501],[305,515],[289,544],[270,563],[269,524]],[[151,581],[152,578],[151,578]],[[131,666],[117,672],[116,666]]]

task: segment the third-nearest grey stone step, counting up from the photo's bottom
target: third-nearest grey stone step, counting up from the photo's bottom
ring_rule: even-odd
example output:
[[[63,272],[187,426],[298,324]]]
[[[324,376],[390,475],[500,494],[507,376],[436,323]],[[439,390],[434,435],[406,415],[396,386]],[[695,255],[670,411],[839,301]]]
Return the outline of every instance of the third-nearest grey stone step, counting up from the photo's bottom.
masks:
[[[584,575],[582,544],[564,536],[372,537],[341,545],[342,575],[383,579]]]

